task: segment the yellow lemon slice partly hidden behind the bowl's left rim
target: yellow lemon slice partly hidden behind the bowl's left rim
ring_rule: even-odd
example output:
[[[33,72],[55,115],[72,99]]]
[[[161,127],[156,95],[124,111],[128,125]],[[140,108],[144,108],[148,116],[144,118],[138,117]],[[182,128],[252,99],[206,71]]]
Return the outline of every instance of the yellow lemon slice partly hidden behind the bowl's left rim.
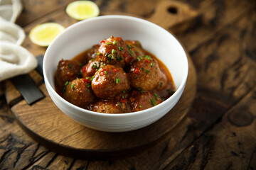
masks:
[[[42,23],[32,28],[29,38],[39,46],[47,47],[65,28],[58,23]]]

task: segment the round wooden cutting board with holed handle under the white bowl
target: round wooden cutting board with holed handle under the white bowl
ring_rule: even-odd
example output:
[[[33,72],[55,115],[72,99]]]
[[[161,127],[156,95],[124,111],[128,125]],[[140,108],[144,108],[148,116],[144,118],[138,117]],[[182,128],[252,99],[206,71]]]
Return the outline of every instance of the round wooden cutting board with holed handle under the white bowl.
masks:
[[[172,19],[167,18],[168,15],[161,12],[163,11],[161,9],[170,8],[170,3],[176,7],[183,8],[184,13],[182,15],[184,16],[173,16],[171,17]],[[174,1],[163,1],[156,8],[154,15],[149,18],[149,21],[167,29],[170,26],[174,26],[175,23],[180,23],[194,15],[192,13],[189,16],[188,13],[187,6],[176,4]],[[167,21],[171,19],[171,21],[166,23],[156,18],[165,18],[165,21],[166,19]],[[70,157],[86,159],[125,157],[166,140],[171,130],[188,113],[196,96],[196,70],[191,62],[191,57],[188,54],[187,56],[189,64],[188,79],[180,101],[163,118],[146,128],[130,132],[100,132],[86,128],[76,123],[55,106],[46,91],[45,84],[40,86],[41,91],[46,95],[45,98],[32,106],[23,100],[12,106],[11,111],[16,116],[18,123],[29,135],[55,152]]]

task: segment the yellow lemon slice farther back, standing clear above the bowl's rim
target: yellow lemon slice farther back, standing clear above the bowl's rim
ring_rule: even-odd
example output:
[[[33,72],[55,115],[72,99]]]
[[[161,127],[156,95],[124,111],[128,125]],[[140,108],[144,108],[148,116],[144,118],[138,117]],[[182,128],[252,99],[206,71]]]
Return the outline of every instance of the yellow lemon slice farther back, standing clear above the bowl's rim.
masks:
[[[81,21],[98,16],[100,14],[100,9],[92,1],[73,1],[68,4],[66,13],[68,13],[68,16],[71,18]]]

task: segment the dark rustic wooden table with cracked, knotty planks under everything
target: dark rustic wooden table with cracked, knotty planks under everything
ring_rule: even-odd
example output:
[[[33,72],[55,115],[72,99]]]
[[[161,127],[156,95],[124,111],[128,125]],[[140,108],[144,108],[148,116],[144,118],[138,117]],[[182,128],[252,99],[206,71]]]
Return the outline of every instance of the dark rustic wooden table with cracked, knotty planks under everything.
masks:
[[[23,0],[18,25],[26,35],[38,23],[67,27],[70,1]],[[96,0],[101,14],[149,18],[157,0]],[[66,157],[39,144],[17,123],[11,108],[23,100],[11,81],[0,89],[0,169],[256,169],[256,1],[183,0],[198,11],[189,26],[174,26],[197,72],[196,98],[164,142],[122,159]],[[175,13],[178,11],[171,11]],[[23,43],[33,55],[44,47]],[[33,77],[36,73],[31,72]],[[38,86],[43,81],[36,81]],[[16,94],[10,96],[9,91]],[[18,96],[18,97],[17,97]]]

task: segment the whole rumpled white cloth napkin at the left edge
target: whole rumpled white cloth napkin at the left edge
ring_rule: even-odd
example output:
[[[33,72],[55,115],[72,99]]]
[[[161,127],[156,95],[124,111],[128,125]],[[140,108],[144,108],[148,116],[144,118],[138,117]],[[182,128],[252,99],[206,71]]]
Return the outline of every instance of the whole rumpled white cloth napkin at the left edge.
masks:
[[[21,0],[0,0],[0,81],[31,72],[36,58],[21,47],[26,35],[15,24],[21,13]]]

